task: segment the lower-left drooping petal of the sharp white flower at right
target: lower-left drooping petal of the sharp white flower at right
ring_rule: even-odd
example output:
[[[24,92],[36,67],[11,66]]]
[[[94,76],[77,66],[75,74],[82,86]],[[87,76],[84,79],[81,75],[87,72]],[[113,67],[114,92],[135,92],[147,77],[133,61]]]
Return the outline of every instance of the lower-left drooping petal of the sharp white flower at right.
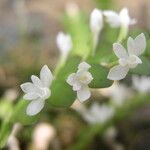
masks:
[[[125,78],[128,71],[129,71],[128,67],[117,65],[110,69],[107,78],[110,80],[121,80]]]

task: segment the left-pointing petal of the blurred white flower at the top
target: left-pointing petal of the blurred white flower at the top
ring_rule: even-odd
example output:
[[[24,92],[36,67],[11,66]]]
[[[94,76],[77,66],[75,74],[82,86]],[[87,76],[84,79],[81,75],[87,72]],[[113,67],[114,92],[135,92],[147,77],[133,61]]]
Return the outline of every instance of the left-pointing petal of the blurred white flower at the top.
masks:
[[[106,17],[106,22],[108,22],[111,27],[117,28],[120,26],[120,18],[116,12],[108,10],[104,11],[103,14]]]

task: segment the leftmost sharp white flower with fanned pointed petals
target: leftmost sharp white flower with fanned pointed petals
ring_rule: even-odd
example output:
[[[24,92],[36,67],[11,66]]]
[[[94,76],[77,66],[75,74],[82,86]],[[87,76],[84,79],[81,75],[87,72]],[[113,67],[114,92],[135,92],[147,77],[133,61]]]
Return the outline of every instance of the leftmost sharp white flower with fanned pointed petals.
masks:
[[[49,86],[52,83],[53,75],[49,68],[44,65],[40,71],[40,78],[35,75],[31,76],[31,82],[26,82],[20,87],[25,92],[24,99],[30,100],[26,113],[35,115],[44,107],[45,100],[50,97],[51,91]]]

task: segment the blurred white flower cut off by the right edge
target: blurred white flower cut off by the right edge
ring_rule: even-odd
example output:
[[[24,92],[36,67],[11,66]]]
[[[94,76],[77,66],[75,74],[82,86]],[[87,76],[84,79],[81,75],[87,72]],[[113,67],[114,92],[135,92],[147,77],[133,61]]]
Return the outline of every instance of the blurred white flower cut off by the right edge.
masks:
[[[150,77],[146,76],[133,76],[132,77],[133,88],[140,93],[150,92]]]

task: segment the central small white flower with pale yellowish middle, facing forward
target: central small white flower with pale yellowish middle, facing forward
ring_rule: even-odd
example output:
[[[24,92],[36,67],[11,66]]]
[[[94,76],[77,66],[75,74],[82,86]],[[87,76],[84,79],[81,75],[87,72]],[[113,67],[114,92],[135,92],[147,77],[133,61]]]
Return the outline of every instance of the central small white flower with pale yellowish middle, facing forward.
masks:
[[[93,80],[91,73],[88,69],[91,66],[86,62],[82,62],[78,66],[78,71],[72,73],[67,78],[67,83],[73,86],[73,90],[77,91],[77,98],[83,102],[91,96],[88,84]]]

